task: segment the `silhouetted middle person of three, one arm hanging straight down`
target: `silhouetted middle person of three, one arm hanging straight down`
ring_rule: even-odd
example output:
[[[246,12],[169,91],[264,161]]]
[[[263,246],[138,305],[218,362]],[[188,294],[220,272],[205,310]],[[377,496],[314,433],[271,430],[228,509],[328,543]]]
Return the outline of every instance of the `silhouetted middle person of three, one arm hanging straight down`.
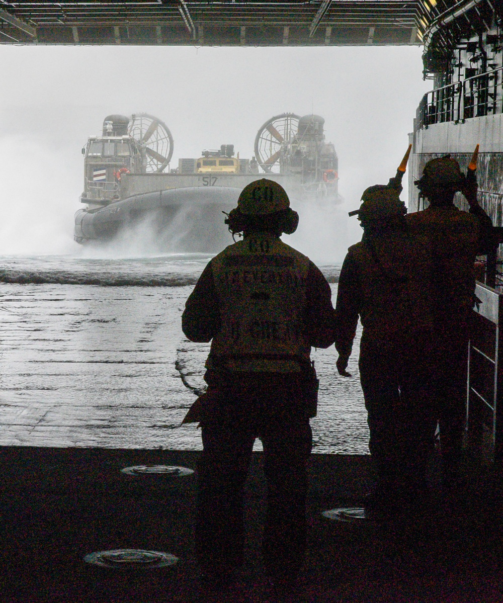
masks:
[[[338,371],[346,376],[359,316],[359,371],[378,473],[367,504],[385,510],[427,493],[425,470],[434,446],[431,257],[407,233],[407,209],[396,188],[371,186],[362,201],[352,213],[364,234],[349,248],[339,278],[335,347]]]

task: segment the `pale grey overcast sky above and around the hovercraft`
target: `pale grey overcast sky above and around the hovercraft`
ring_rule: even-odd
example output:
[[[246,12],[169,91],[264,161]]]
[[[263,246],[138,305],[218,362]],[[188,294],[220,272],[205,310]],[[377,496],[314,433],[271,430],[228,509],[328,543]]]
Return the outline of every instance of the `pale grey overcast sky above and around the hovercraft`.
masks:
[[[75,251],[80,150],[110,113],[162,119],[174,138],[172,166],[221,144],[251,157],[268,118],[317,113],[339,156],[344,211],[354,209],[367,186],[394,175],[407,149],[416,107],[431,88],[421,52],[2,45],[0,253]],[[360,235],[351,223],[347,243]]]

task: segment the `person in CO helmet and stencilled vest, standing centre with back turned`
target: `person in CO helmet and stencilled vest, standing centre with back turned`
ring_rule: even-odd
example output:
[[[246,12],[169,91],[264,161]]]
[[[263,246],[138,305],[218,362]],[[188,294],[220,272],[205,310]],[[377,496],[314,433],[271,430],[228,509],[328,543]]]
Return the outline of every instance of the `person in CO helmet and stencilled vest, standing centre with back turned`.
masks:
[[[262,178],[226,219],[243,240],[204,268],[182,329],[211,341],[207,393],[184,422],[200,421],[196,548],[203,581],[218,591],[243,563],[243,488],[253,443],[264,446],[267,517],[262,555],[273,588],[294,590],[306,549],[306,461],[318,381],[311,347],[334,343],[331,289],[320,270],[280,239],[299,216]]]

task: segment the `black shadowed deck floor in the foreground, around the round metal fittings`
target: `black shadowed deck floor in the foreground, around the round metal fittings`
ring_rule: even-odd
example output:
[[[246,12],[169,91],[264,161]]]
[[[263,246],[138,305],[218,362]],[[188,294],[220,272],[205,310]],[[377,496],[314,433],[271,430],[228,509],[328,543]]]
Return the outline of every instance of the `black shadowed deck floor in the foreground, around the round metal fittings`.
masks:
[[[193,554],[195,475],[128,478],[123,467],[195,469],[197,451],[1,447],[2,603],[199,601]],[[262,453],[247,490],[245,581],[264,587],[259,539],[264,517]],[[320,512],[357,503],[372,482],[369,456],[312,455],[308,601],[501,603],[500,499],[489,472],[466,465],[470,488],[438,517],[387,525],[330,522]],[[84,555],[107,549],[164,551],[165,569],[106,570]],[[202,599],[201,599],[202,600]]]

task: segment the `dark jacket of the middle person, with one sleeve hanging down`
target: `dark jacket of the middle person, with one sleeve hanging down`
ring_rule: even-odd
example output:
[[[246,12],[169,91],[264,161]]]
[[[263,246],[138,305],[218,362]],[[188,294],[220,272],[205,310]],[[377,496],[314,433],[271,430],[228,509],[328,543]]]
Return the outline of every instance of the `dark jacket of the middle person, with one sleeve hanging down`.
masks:
[[[428,340],[432,332],[429,257],[424,243],[401,232],[364,235],[349,248],[338,285],[338,352],[347,352],[348,347],[350,352],[358,315],[363,340],[394,339],[404,344],[410,338],[417,344],[419,337]]]

